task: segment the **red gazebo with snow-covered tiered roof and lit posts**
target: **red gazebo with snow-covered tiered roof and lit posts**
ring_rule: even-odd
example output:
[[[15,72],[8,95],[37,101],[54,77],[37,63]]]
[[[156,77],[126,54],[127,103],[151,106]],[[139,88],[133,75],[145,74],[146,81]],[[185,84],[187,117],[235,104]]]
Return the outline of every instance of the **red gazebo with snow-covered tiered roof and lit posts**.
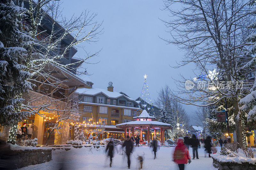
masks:
[[[156,117],[150,116],[146,110],[143,110],[139,116],[133,117],[135,121],[117,124],[117,128],[124,129],[125,136],[127,136],[127,129],[129,131],[129,136],[134,136],[134,129],[140,130],[140,139],[142,139],[142,130],[148,130],[148,144],[150,142],[150,130],[154,130],[154,136],[156,136],[156,131],[160,130],[161,134],[161,144],[164,143],[164,131],[165,129],[172,129],[172,126],[168,123],[156,121]]]

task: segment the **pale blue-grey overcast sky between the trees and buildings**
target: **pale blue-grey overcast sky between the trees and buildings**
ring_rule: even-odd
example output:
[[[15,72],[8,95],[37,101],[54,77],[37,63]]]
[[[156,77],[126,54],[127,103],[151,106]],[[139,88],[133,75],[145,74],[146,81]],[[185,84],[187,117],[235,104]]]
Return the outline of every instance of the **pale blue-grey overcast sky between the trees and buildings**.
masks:
[[[162,11],[161,0],[129,1],[88,1],[65,0],[62,4],[63,14],[71,17],[80,14],[84,9],[98,13],[97,20],[103,21],[104,33],[97,43],[86,44],[86,50],[96,52],[102,48],[98,57],[87,64],[87,72],[93,87],[106,89],[112,81],[114,90],[125,92],[131,98],[140,96],[143,75],[147,74],[148,89],[151,100],[157,98],[157,91],[165,84],[176,88],[172,78],[193,77],[193,66],[179,69],[171,68],[184,55],[175,45],[167,45],[159,38],[170,38],[164,23],[159,18],[168,20],[168,12]],[[83,57],[79,50],[75,56]],[[193,117],[194,106],[184,106]],[[195,124],[191,118],[191,124]]]

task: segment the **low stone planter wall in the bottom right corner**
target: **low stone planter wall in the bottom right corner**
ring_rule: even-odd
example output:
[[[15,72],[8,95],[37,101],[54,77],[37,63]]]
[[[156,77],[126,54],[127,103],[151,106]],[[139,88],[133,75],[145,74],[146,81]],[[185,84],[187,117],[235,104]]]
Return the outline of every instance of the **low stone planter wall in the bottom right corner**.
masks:
[[[256,170],[256,165],[243,162],[242,164],[236,162],[220,162],[217,159],[213,159],[212,165],[218,170]]]

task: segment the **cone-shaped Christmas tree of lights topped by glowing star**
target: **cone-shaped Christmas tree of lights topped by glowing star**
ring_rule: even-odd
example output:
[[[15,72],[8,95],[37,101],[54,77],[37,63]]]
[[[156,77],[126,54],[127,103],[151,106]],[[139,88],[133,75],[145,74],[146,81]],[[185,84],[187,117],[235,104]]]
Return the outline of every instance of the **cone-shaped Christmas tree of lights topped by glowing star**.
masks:
[[[150,110],[148,110],[146,107],[144,107],[145,110],[147,110],[151,115],[155,116],[155,111],[151,102],[150,94],[148,91],[148,83],[147,83],[147,77],[148,75],[144,75],[144,84],[140,93],[140,104],[143,107],[143,105],[148,105],[150,106]]]

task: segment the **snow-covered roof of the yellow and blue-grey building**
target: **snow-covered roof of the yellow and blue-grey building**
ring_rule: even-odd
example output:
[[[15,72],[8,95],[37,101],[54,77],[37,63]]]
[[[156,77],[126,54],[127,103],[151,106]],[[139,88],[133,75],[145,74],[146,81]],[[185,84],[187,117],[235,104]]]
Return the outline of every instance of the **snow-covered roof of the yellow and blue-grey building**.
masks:
[[[92,95],[92,96],[95,96],[97,94],[104,94],[105,96],[107,96],[108,98],[114,98],[114,99],[117,99],[119,97],[125,97],[126,99],[128,100],[132,100],[132,101],[135,101],[133,100],[132,98],[124,95],[124,94],[121,94],[119,92],[110,92],[108,90],[105,90],[105,89],[99,89],[99,88],[91,88],[91,89],[87,89],[87,88],[79,88],[76,90],[76,92],[80,93],[80,94],[85,94],[85,95]]]

